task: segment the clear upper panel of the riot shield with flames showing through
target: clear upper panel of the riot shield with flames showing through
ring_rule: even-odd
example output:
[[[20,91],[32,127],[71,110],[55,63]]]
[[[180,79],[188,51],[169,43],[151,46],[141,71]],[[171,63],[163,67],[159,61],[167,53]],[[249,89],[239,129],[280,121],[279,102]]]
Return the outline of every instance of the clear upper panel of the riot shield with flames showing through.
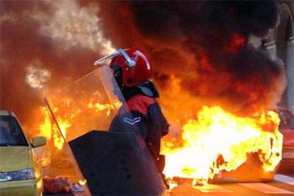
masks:
[[[124,103],[107,66],[50,94],[46,100],[67,142],[92,130],[108,131]]]

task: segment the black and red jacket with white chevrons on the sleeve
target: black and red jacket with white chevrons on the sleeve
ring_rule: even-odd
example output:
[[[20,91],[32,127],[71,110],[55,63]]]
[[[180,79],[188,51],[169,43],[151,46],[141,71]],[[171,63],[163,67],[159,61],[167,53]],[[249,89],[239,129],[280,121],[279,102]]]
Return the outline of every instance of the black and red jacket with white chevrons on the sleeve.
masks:
[[[158,97],[158,94],[153,93],[148,94],[153,96],[147,96],[144,93],[146,92],[144,87],[125,89],[122,92],[126,99],[126,106],[123,105],[119,109],[119,114],[111,123],[110,131],[136,131],[146,141],[152,156],[158,158],[160,138],[168,134],[169,127],[156,102],[155,97]]]

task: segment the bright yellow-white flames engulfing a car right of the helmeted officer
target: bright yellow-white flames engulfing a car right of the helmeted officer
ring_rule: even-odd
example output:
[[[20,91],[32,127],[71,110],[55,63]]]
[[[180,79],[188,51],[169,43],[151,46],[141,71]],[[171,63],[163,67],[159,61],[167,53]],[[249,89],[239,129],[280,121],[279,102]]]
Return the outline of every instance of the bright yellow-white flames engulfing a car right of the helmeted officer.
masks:
[[[278,114],[239,117],[221,107],[202,107],[197,119],[183,126],[181,146],[167,143],[166,178],[193,178],[207,183],[221,170],[236,170],[249,153],[257,153],[263,170],[272,171],[281,160],[283,136]]]

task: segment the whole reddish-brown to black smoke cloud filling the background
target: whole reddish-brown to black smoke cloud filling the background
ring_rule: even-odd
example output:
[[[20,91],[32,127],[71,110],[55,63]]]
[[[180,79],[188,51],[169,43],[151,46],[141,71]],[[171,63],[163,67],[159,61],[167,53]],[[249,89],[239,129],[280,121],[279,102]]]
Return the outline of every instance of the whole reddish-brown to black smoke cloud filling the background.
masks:
[[[171,119],[204,104],[253,114],[285,89],[283,65],[247,44],[276,28],[276,1],[1,1],[0,9],[0,107],[21,121],[114,48],[149,56]]]

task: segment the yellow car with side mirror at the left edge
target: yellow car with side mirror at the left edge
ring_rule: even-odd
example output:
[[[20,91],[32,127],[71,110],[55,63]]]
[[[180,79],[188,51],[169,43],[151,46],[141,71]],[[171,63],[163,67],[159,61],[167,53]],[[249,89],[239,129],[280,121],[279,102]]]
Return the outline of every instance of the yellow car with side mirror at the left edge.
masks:
[[[0,109],[0,195],[42,195],[40,164],[33,148],[44,146],[44,137],[28,141],[16,115]]]

